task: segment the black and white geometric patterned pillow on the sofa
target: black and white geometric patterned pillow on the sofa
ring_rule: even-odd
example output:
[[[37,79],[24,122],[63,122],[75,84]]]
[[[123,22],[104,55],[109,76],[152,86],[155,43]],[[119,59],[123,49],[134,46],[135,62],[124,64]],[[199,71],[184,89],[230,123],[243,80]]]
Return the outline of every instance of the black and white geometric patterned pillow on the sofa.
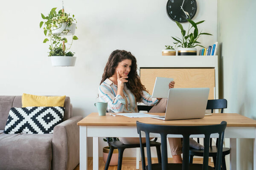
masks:
[[[53,133],[53,128],[62,122],[63,107],[11,108],[4,133]]]

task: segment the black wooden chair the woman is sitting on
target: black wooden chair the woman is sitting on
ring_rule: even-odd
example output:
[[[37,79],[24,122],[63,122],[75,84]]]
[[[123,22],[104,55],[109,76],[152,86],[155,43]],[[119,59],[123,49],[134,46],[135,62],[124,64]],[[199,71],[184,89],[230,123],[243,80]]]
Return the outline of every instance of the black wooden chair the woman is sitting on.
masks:
[[[149,111],[152,108],[152,106],[146,106],[146,105],[138,105],[138,110],[139,111]],[[151,147],[156,147],[157,149],[157,158],[158,158],[158,162],[161,162],[161,143],[156,142],[157,138],[155,138],[153,141],[150,141],[150,146]],[[126,148],[137,148],[140,147],[140,144],[123,144],[122,142],[120,142],[119,140],[117,140],[116,138],[113,138],[113,140],[111,140],[111,138],[107,137],[107,142],[108,145],[110,147],[109,153],[108,153],[108,159],[105,165],[105,170],[108,170],[109,167],[109,163],[111,161],[111,157],[113,154],[113,150],[115,148],[118,149],[118,164],[117,164],[117,170],[121,170],[122,167],[122,156],[123,156],[123,152]],[[143,147],[146,147],[145,144],[143,144]],[[145,153],[144,153],[144,149],[143,152],[141,152],[141,164],[143,167],[143,170],[145,170]]]

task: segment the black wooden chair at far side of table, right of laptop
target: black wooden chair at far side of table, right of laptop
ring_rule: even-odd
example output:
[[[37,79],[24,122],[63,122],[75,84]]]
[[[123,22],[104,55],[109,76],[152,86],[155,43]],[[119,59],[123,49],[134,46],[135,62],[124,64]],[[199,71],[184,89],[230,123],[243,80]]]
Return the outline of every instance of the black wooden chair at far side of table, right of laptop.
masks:
[[[227,108],[227,100],[226,99],[214,99],[214,100],[208,100],[208,102],[207,102],[206,109],[211,109],[212,113],[213,113],[214,109],[221,109],[221,113],[223,113],[224,108]],[[198,139],[198,143],[199,143],[199,139]],[[218,138],[216,140],[216,146],[212,146],[212,139],[210,139],[209,157],[212,157],[214,166],[216,164],[217,150],[218,150]],[[225,156],[228,154],[230,154],[230,148],[223,147],[222,163],[221,163],[222,170],[227,170]],[[189,162],[190,163],[193,162],[193,156],[203,156],[203,155],[204,155],[204,150],[190,148]]]

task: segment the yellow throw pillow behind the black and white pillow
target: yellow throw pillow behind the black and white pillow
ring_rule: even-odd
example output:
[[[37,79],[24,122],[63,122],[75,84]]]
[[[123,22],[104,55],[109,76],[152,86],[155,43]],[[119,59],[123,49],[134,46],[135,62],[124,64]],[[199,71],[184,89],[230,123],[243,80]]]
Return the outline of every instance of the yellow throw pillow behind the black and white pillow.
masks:
[[[22,107],[64,107],[66,96],[36,96],[32,94],[22,95]]]

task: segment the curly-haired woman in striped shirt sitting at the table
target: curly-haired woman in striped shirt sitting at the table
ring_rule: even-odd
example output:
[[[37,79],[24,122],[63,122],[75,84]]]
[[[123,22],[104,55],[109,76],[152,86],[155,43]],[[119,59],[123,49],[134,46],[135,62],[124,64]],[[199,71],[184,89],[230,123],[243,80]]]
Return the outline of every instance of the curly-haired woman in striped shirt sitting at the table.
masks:
[[[174,85],[174,81],[170,82],[169,88],[174,88]],[[137,113],[137,102],[154,105],[149,113],[166,112],[167,99],[152,98],[148,94],[137,74],[136,58],[125,50],[111,53],[100,82],[99,98],[108,102],[108,112]],[[119,137],[119,140],[124,144],[140,143],[139,138]],[[169,138],[169,145],[175,163],[182,163],[180,138]]]

